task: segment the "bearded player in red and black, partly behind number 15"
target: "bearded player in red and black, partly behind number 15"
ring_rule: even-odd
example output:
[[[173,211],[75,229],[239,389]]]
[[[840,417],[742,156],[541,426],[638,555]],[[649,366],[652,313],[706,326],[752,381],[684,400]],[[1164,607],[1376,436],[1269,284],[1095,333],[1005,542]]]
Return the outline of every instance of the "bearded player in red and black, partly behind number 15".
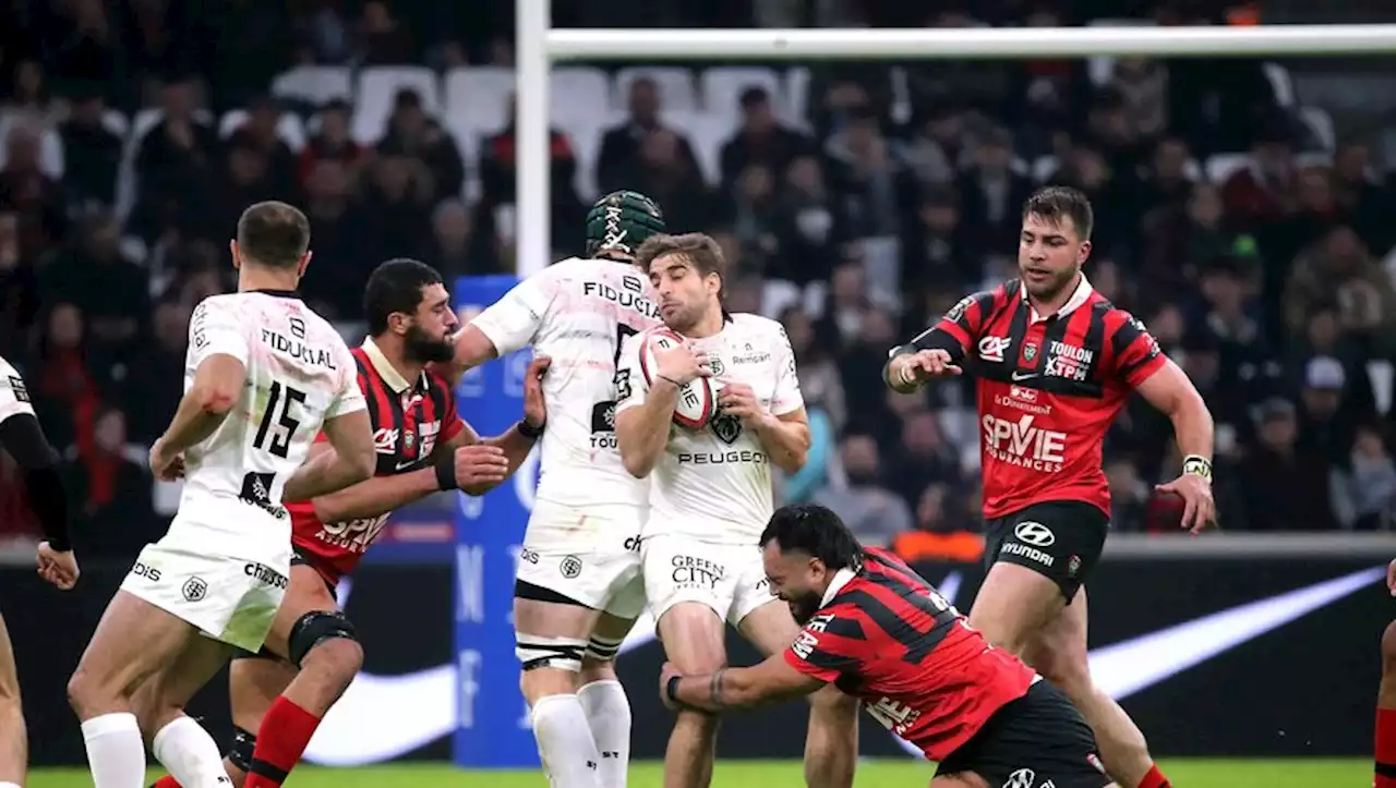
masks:
[[[377,470],[338,492],[286,503],[296,558],[285,601],[262,653],[243,653],[229,674],[236,735],[225,767],[235,784],[248,788],[286,780],[320,720],[359,672],[363,650],[334,589],[392,510],[443,490],[493,490],[524,462],[547,418],[543,357],[528,370],[524,418],[508,432],[482,439],[461,418],[451,385],[427,368],[451,360],[459,328],[431,266],[384,262],[369,278],[364,311],[370,336],[350,353],[369,400]],[[317,444],[311,457],[328,446]],[[155,788],[174,785],[165,777]]]

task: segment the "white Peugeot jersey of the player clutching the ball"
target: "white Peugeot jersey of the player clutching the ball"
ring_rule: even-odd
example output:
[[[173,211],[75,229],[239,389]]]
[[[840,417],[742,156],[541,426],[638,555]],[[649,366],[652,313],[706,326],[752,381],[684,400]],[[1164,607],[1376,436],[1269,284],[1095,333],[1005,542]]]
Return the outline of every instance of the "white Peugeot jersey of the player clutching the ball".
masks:
[[[639,370],[642,340],[628,339],[621,351],[618,410],[642,404],[649,393]],[[794,351],[776,321],[734,314],[720,332],[692,343],[708,353],[715,392],[726,382],[741,382],[768,413],[785,416],[804,407]],[[734,416],[719,413],[698,431],[670,425],[669,445],[651,478],[645,536],[755,544],[775,510],[771,459]]]

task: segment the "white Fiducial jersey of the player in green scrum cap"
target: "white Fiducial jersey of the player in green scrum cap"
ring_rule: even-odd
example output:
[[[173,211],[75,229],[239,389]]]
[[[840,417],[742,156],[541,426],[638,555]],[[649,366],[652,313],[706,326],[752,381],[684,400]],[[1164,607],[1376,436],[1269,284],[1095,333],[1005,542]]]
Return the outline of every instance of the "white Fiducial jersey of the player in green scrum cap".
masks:
[[[526,346],[553,360],[543,378],[537,499],[644,506],[648,484],[616,448],[616,361],[624,338],[659,324],[649,282],[628,262],[570,258],[519,282],[472,325],[500,356]]]

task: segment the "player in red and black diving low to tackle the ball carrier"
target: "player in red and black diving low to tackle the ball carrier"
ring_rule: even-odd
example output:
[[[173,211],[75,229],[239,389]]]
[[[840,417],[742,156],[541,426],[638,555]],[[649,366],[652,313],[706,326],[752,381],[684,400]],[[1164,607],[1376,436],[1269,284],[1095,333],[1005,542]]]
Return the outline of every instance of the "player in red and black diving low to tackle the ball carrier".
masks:
[[[683,676],[664,665],[666,704],[723,711],[832,683],[940,763],[933,788],[1114,785],[1061,690],[991,647],[891,552],[861,548],[838,515],[783,506],[761,548],[771,590],[804,629],[750,668]]]

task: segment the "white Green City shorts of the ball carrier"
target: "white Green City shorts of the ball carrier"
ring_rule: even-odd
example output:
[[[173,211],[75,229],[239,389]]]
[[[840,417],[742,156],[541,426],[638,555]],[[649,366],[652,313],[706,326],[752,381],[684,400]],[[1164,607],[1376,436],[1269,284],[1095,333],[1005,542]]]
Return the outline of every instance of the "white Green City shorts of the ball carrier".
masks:
[[[751,611],[778,601],[754,544],[656,534],[645,537],[641,561],[655,621],[678,603],[699,603],[737,626]]]

